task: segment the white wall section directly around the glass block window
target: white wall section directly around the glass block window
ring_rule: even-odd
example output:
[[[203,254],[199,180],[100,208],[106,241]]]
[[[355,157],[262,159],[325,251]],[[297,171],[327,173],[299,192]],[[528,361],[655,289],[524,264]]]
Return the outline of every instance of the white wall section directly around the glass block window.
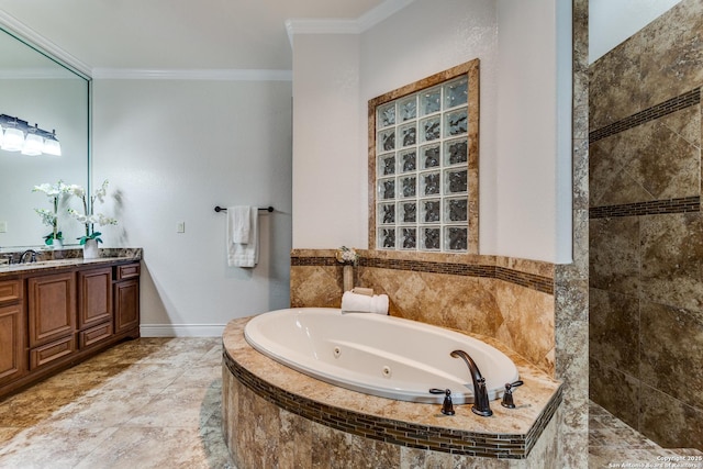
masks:
[[[480,59],[481,253],[495,249],[496,41],[493,0],[416,0],[362,34],[361,99],[365,105],[368,100],[388,91],[465,62]],[[362,119],[366,118],[365,111]],[[364,129],[359,137],[366,148],[366,125]],[[366,179],[364,185],[366,187]],[[365,209],[366,223],[368,209]]]

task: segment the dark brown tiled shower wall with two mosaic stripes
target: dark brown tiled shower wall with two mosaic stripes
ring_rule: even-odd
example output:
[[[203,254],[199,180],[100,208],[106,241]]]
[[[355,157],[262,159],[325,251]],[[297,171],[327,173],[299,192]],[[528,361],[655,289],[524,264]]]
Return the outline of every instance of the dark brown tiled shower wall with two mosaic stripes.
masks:
[[[590,394],[703,449],[703,3],[590,67]]]

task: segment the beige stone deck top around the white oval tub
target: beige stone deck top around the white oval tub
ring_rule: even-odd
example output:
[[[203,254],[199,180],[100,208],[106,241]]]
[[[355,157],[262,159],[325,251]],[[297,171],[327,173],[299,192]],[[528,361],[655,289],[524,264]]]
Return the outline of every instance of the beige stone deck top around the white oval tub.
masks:
[[[233,320],[223,333],[223,347],[233,360],[261,380],[292,394],[352,412],[373,415],[379,418],[405,421],[414,425],[443,427],[478,434],[534,435],[539,421],[548,420],[555,404],[560,401],[561,383],[524,358],[507,349],[500,342],[486,336],[477,338],[492,345],[507,355],[517,366],[524,386],[516,389],[516,409],[505,409],[500,401],[491,401],[493,416],[481,417],[473,414],[470,404],[456,405],[456,415],[442,414],[440,404],[424,404],[389,400],[350,391],[288,368],[252,348],[244,338],[244,326],[250,317]],[[546,423],[544,423],[546,425]],[[538,431],[540,433],[542,429]],[[538,435],[536,435],[538,437]]]

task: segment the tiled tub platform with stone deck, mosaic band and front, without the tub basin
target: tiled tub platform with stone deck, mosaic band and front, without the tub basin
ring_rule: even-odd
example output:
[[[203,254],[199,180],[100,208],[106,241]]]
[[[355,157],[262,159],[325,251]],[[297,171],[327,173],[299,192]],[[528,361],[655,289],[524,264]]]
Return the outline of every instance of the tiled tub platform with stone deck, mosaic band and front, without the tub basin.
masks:
[[[459,467],[493,464],[487,457],[500,459],[480,467],[549,467],[555,461],[553,416],[560,384],[498,340],[479,337],[516,362],[525,381],[515,392],[517,409],[493,401],[494,415],[486,418],[458,405],[457,415],[448,417],[440,404],[367,395],[280,365],[246,343],[248,320],[232,321],[223,334],[225,438],[242,467],[269,467],[279,459],[295,467],[336,467],[335,461],[410,467],[417,459],[465,465]]]

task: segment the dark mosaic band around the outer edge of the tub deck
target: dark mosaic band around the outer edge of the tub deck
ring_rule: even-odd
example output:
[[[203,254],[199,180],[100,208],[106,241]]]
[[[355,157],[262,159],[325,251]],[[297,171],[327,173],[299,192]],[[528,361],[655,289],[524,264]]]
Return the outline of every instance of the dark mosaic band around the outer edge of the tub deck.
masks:
[[[559,388],[526,435],[464,432],[414,425],[323,404],[284,391],[258,378],[234,360],[224,344],[222,357],[232,376],[243,386],[267,402],[295,415],[362,438],[454,455],[525,459],[562,400],[562,389]]]

